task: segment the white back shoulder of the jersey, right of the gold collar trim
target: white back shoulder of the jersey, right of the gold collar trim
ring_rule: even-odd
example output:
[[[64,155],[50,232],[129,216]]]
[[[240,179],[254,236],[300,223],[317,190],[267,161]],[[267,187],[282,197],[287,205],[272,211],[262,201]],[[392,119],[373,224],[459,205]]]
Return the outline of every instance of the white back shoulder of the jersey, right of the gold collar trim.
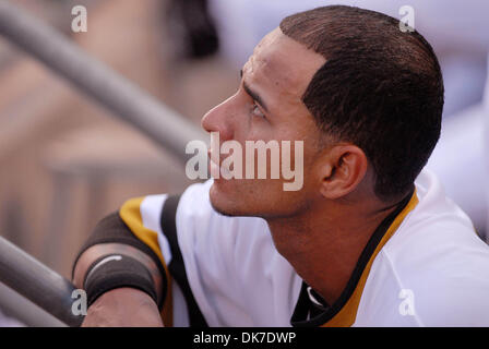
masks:
[[[489,246],[434,174],[421,173],[416,189],[419,203],[375,258],[367,286],[395,316],[413,298],[420,325],[489,325]]]

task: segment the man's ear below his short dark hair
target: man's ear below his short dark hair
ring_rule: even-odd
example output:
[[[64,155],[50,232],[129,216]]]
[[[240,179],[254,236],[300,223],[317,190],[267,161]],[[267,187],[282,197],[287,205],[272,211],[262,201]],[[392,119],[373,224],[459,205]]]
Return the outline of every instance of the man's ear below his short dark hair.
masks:
[[[363,180],[368,167],[363,151],[353,144],[335,145],[321,166],[321,194],[339,198],[353,192]]]

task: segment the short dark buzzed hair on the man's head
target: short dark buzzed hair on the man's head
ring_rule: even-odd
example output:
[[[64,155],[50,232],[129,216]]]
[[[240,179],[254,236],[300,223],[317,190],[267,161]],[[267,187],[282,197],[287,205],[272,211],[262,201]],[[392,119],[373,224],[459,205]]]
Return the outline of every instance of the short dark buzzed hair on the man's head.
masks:
[[[398,20],[345,5],[290,15],[281,29],[326,59],[302,96],[318,127],[363,149],[377,196],[406,195],[441,129],[443,79],[428,41]]]

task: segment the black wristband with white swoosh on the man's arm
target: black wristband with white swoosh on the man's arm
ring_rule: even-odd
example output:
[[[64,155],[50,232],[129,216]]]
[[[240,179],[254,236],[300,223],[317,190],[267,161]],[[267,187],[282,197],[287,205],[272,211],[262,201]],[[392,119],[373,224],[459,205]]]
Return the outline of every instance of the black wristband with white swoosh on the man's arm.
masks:
[[[159,305],[150,270],[138,260],[123,254],[109,254],[96,260],[86,273],[83,287],[87,306],[103,293],[121,287],[146,292]]]

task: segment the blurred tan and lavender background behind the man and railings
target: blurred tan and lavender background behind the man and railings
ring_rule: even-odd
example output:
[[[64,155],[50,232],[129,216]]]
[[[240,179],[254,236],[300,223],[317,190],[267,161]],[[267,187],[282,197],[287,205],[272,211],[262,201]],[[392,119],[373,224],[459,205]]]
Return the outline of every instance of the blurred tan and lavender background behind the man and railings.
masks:
[[[442,139],[428,167],[486,234],[487,1],[11,2],[195,125],[235,93],[239,69],[285,15],[343,3],[401,19],[408,4],[416,29],[440,59],[446,89]],[[71,10],[79,4],[87,9],[86,33],[71,31]],[[0,36],[0,234],[70,278],[80,245],[100,218],[127,198],[178,193],[190,181],[165,149]]]

